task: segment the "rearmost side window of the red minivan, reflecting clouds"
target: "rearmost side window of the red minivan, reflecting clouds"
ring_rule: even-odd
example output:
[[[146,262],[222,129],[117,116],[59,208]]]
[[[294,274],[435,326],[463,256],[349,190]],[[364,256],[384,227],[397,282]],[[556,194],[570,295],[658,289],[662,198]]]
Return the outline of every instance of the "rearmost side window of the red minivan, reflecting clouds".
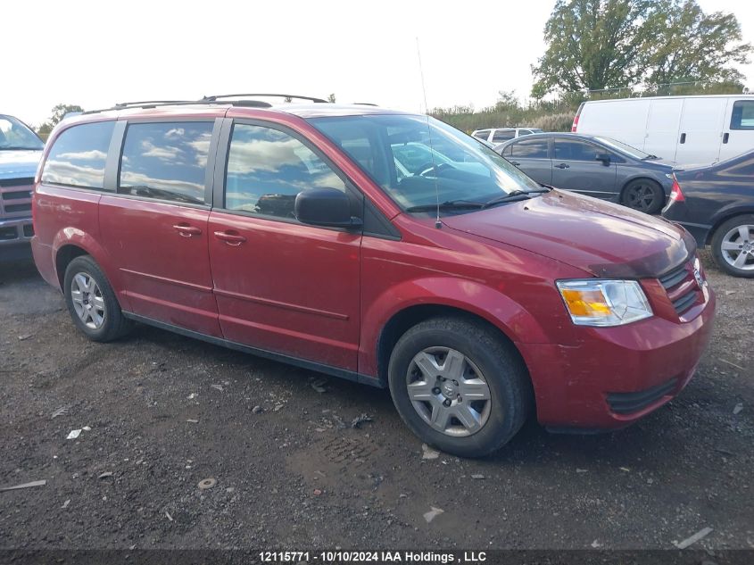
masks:
[[[114,127],[114,121],[98,121],[63,130],[47,155],[42,182],[101,189]]]

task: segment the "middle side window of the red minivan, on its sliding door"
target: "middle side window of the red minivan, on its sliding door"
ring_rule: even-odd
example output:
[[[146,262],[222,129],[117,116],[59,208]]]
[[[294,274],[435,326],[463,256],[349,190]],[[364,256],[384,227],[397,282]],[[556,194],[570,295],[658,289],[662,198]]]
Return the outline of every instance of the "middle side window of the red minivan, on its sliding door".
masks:
[[[118,192],[204,204],[211,121],[128,124]]]

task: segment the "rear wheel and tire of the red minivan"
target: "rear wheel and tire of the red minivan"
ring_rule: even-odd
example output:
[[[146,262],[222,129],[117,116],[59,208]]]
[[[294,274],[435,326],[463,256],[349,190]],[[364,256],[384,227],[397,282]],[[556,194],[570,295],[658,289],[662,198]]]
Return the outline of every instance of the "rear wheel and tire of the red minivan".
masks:
[[[110,282],[89,255],[80,255],[68,264],[63,292],[73,323],[92,341],[112,341],[131,328]]]

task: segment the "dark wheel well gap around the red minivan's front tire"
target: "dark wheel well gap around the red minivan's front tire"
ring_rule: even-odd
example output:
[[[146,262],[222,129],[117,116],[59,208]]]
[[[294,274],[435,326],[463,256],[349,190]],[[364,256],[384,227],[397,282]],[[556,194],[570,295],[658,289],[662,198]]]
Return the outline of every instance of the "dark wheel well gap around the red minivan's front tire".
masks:
[[[501,340],[510,345],[510,350],[518,355],[521,363],[526,367],[526,362],[521,353],[518,352],[518,348],[510,340],[510,337],[506,336],[500,328],[497,328],[494,324],[490,323],[477,314],[461,310],[460,308],[454,308],[452,306],[445,306],[443,304],[419,304],[417,306],[410,306],[401,312],[394,314],[393,318],[387,321],[385,328],[382,328],[379,340],[377,341],[377,376],[380,381],[387,384],[387,366],[390,363],[390,353],[393,352],[395,344],[401,339],[410,328],[413,328],[418,323],[428,320],[429,318],[437,318],[439,316],[452,316],[455,318],[462,318],[464,320],[475,322],[485,328],[490,328],[495,334],[500,336]]]

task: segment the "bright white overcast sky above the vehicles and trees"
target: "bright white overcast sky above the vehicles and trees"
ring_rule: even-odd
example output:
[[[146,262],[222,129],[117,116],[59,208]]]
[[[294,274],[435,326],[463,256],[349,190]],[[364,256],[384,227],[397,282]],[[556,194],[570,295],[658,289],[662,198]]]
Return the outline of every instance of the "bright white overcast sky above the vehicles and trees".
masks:
[[[754,43],[754,1],[733,12]],[[327,96],[423,111],[528,95],[554,0],[0,1],[0,112],[31,124],[86,109],[238,92]],[[741,67],[754,87],[754,64]]]

